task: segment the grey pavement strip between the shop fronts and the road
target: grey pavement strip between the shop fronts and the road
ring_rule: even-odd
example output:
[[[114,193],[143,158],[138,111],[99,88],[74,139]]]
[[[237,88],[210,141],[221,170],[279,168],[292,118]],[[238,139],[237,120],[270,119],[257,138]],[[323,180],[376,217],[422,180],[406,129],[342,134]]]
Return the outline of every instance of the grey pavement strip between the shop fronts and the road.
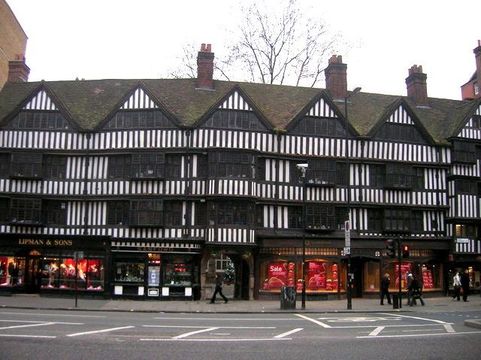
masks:
[[[38,294],[11,294],[0,296],[0,309],[35,309],[35,310],[70,310],[70,311],[128,311],[155,313],[369,313],[369,312],[462,312],[480,311],[481,297],[475,294],[468,302],[455,301],[450,296],[425,297],[425,306],[420,304],[407,306],[403,299],[402,308],[394,309],[392,305],[381,306],[375,298],[353,298],[352,309],[347,309],[347,300],[306,301],[305,309],[301,301],[296,300],[296,307],[281,309],[280,300],[229,300],[226,304],[218,300],[211,304],[209,300],[131,300],[131,299],[93,299],[78,297],[54,297]],[[481,329],[479,319],[465,320],[465,325]]]

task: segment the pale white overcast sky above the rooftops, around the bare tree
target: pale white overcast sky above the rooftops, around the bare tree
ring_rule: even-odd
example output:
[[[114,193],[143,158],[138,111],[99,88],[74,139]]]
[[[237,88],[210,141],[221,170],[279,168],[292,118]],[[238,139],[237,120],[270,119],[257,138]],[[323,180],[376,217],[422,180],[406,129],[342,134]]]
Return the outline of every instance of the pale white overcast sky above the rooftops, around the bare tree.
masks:
[[[187,43],[211,43],[222,53],[240,2],[7,0],[28,36],[30,81],[167,77]],[[339,55],[350,90],[406,95],[408,69],[417,64],[428,76],[428,96],[460,99],[475,71],[479,0],[299,2],[349,44]]]

